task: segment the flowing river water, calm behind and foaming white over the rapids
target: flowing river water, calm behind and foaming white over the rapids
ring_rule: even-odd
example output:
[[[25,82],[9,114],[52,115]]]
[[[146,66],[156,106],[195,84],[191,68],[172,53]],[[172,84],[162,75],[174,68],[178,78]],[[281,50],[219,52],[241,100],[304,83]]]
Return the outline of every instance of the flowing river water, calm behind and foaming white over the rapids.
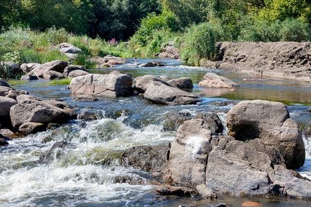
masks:
[[[120,97],[98,101],[76,101],[70,97],[67,86],[46,85],[47,81],[30,81],[14,88],[28,90],[44,99],[61,99],[79,112],[94,111],[94,121],[72,120],[64,126],[9,141],[0,148],[0,206],[178,206],[180,204],[210,204],[197,197],[161,197],[148,172],[120,165],[124,149],[138,145],[168,143],[176,132],[165,132],[163,121],[167,112],[216,112],[225,125],[227,111],[234,102],[243,99],[282,101],[288,105],[290,116],[299,123],[310,123],[311,105],[309,83],[254,79],[223,70],[183,66],[171,59],[166,67],[138,68],[137,63],[151,59],[130,59],[130,63],[115,68],[94,69],[92,73],[108,74],[122,70],[132,75],[167,75],[172,78],[190,77],[201,99],[196,106],[160,106],[138,97]],[[198,82],[206,72],[216,72],[241,83],[234,91],[199,88]],[[229,101],[227,106],[219,106]],[[129,110],[128,115],[120,113]],[[42,140],[52,141],[44,144]],[[311,179],[311,138],[303,137],[306,161],[299,169],[301,175]],[[50,164],[37,164],[41,152],[46,152],[56,141],[68,141],[69,147]],[[125,181],[124,181],[125,180]],[[310,201],[294,199],[236,198],[223,196],[217,202],[241,206],[244,201],[258,201],[263,206],[310,206]]]

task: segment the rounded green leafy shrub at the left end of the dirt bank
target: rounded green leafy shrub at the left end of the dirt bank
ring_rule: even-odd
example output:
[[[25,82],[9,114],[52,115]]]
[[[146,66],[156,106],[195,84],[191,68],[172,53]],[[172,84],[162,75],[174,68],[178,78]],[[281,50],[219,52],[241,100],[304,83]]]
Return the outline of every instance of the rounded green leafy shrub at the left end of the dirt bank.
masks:
[[[180,50],[182,60],[198,65],[202,58],[216,59],[216,41],[220,30],[209,22],[191,26],[185,34],[185,47]]]

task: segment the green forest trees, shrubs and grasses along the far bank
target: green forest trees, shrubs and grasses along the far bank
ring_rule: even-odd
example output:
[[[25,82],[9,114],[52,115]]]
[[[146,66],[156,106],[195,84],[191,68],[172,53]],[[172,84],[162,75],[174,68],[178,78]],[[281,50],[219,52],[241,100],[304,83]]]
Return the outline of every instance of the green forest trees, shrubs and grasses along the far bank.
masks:
[[[217,41],[311,41],[310,0],[1,0],[1,61],[151,56],[173,41],[182,60],[217,59]],[[184,43],[184,44],[182,44]],[[182,47],[181,47],[182,46]]]

